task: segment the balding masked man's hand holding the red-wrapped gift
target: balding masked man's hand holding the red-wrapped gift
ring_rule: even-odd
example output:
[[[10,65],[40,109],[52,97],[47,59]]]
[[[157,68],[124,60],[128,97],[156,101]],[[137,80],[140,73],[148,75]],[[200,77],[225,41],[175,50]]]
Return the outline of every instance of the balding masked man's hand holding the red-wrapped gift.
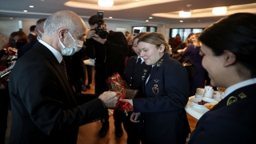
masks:
[[[117,92],[105,91],[103,94],[98,97],[104,104],[106,108],[114,108],[118,103],[118,94]]]

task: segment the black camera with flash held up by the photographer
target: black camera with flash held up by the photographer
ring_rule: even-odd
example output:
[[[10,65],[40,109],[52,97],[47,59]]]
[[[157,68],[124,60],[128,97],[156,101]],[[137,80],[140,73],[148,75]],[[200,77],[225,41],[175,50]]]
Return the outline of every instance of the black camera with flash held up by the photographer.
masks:
[[[104,27],[102,27],[102,23],[103,23],[103,15],[104,15],[104,11],[98,11],[97,12],[97,24],[98,26],[93,29],[96,31],[96,34],[98,34],[98,36],[100,38],[107,38],[108,36],[108,32],[106,31],[106,29],[104,29]]]

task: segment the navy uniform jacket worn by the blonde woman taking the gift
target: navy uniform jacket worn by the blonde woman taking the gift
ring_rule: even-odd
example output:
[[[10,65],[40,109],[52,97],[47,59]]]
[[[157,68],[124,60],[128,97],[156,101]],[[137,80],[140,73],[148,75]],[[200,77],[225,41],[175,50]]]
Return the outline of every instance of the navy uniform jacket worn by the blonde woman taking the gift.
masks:
[[[152,144],[185,143],[190,132],[184,110],[189,99],[186,69],[164,54],[152,70],[146,86],[142,85],[145,98],[133,100],[134,112],[142,114],[142,139]]]

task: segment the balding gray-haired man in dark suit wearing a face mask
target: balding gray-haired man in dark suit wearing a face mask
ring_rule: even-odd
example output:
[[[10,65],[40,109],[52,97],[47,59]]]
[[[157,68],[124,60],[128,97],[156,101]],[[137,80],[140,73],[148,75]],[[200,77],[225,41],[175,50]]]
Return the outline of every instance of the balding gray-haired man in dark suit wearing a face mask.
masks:
[[[76,144],[78,127],[105,117],[118,102],[105,92],[78,106],[62,55],[82,48],[86,24],[77,14],[58,11],[46,19],[42,39],[20,58],[10,75],[10,144]]]

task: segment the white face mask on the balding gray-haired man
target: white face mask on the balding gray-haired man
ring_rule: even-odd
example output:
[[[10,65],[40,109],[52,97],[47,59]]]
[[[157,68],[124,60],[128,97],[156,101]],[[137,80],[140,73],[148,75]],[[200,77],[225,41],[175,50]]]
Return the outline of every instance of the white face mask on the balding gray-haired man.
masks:
[[[68,33],[70,34],[70,32],[68,31]],[[64,44],[62,43],[62,41],[58,38],[58,41],[61,43],[62,46],[62,55],[66,55],[66,56],[70,56],[73,55],[75,52],[78,52],[79,50],[82,49],[82,45],[83,42],[79,41],[79,40],[75,40],[72,35],[70,34],[70,37],[74,40],[74,44],[72,47],[66,47],[64,46]]]

